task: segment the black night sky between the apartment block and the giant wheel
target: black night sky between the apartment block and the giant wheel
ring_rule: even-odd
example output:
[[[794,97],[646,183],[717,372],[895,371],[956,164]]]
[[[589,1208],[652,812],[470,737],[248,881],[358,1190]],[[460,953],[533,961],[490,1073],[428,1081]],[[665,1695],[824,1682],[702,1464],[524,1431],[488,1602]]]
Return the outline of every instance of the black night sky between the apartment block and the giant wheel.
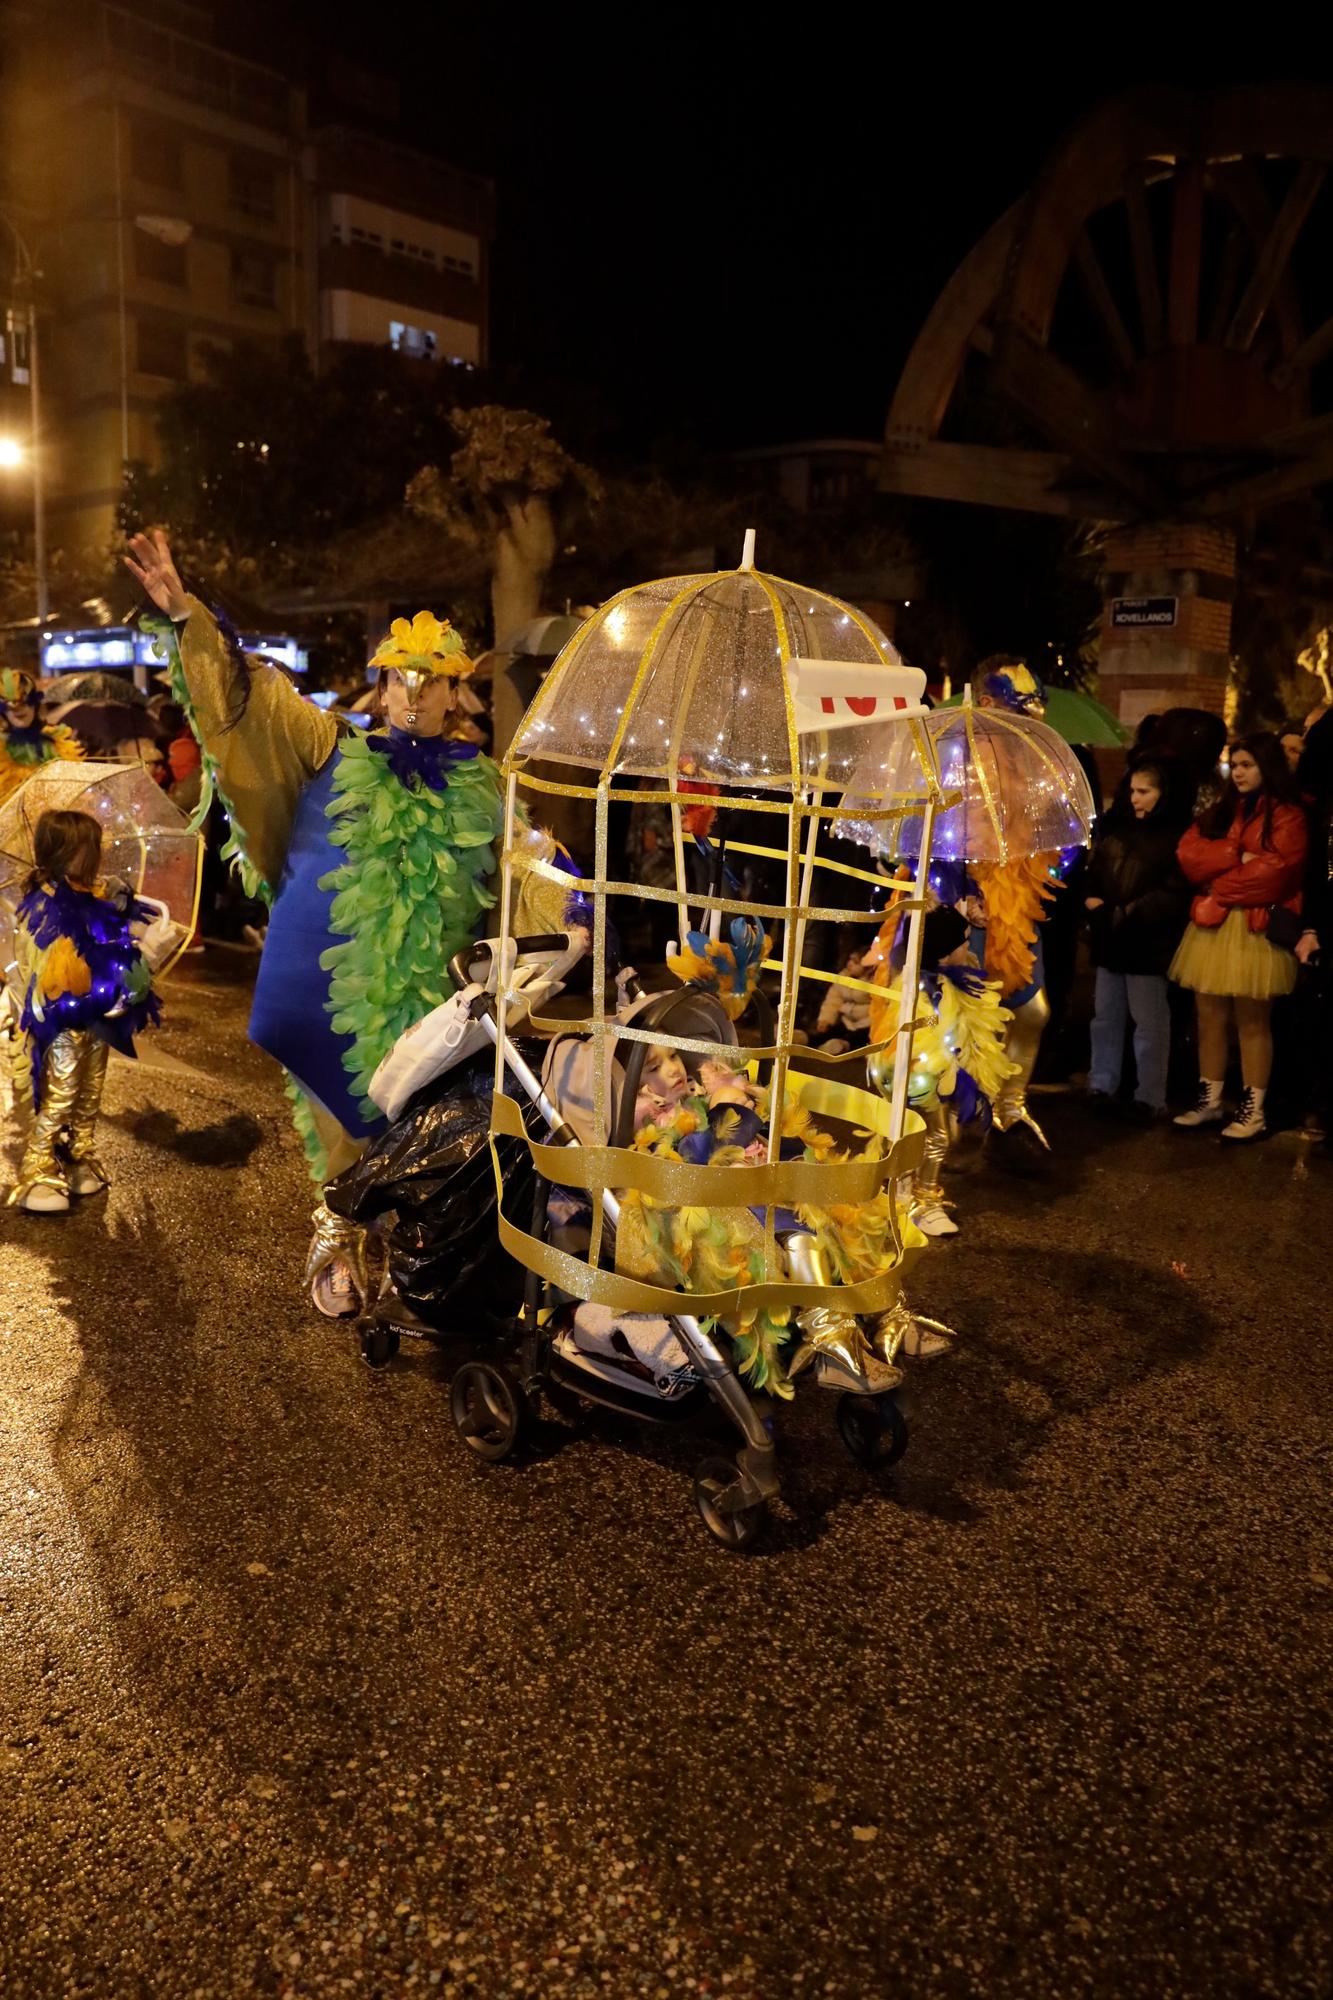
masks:
[[[909,42],[851,8],[803,40],[753,8],[280,12],[228,10],[276,66],[304,32],[396,76],[404,142],[496,180],[494,358],[586,384],[634,448],[879,436],[941,284],[1081,112],[1255,62],[1061,60],[1017,14]]]

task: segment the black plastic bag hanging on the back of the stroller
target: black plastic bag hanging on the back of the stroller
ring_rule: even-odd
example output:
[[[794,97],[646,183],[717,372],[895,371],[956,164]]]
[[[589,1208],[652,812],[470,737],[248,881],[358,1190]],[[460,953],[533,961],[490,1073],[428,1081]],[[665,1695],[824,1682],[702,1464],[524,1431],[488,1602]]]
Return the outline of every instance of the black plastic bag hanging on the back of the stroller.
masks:
[[[418,1092],[324,1200],[336,1216],[374,1228],[388,1246],[388,1274],[404,1304],[432,1326],[484,1298],[490,1312],[516,1310],[522,1270],[500,1250],[494,1170],[486,1136],[494,1056],[476,1056]],[[524,1106],[528,1130],[540,1116]],[[498,1138],[504,1214],[522,1228],[532,1216],[532,1158]]]

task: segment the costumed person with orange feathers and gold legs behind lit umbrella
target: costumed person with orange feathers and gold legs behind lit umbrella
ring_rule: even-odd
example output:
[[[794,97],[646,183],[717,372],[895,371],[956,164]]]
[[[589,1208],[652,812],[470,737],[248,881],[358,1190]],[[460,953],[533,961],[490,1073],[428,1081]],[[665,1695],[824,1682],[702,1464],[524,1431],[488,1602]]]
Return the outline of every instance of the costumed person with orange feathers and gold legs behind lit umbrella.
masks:
[[[1029,666],[997,658],[985,662],[975,684],[977,708],[1007,708],[1011,714],[1047,712],[1047,690]],[[981,920],[977,926],[979,956],[987,980],[999,986],[999,998],[1009,1008],[1011,1022],[1005,1054],[1013,1064],[993,1106],[995,1132],[1003,1152],[1029,1156],[1047,1148],[1047,1136],[1027,1106],[1027,1090],[1037,1068],[1041,1036],[1051,1020],[1041,948],[1041,926],[1047,906],[1061,886],[1059,854],[1023,854],[1009,862],[975,862],[969,874],[977,882]],[[1003,1156],[1003,1154],[1001,1154]]]

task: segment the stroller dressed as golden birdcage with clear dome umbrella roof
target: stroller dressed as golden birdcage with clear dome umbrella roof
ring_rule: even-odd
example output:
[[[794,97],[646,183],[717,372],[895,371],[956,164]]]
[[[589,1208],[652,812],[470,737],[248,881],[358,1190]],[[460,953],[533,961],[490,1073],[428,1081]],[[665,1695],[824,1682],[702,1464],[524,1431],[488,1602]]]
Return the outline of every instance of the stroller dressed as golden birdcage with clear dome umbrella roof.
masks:
[[[899,1406],[903,1378],[889,1354],[875,1352],[869,1328],[897,1300],[903,1270],[917,1254],[903,1242],[893,1200],[885,1200],[897,1180],[915,1170],[923,1148],[921,1120],[905,1110],[911,1022],[899,1022],[891,1100],[801,1074],[793,1062],[793,1022],[807,924],[881,922],[879,912],[865,908],[821,908],[813,894],[813,874],[825,866],[817,854],[819,820],[839,818],[837,798],[851,772],[861,772],[859,822],[921,812],[925,796],[921,880],[935,802],[945,796],[925,734],[917,794],[885,804],[871,786],[865,796],[875,732],[911,726],[921,714],[923,676],[897,666],[889,642],[859,612],[821,592],[761,576],[749,554],[747,548],[747,562],[735,572],[646,584],[602,606],[546,676],[506,760],[500,934],[450,964],[456,992],[440,1010],[448,1020],[436,1068],[452,1072],[454,1082],[444,1096],[420,1096],[406,1130],[442,1102],[464,1098],[472,1104],[470,1138],[456,1158],[458,1172],[474,1176],[472,1206],[466,1230],[452,1234],[454,1258],[470,1264],[482,1226],[492,1220],[500,1248],[524,1272],[518,1308],[478,1324],[478,1314],[460,1310],[456,1298],[440,1290],[422,1298],[420,1288],[412,1290],[410,1258],[428,1248],[422,1230],[440,1188],[424,1202],[400,1198],[410,1196],[408,1188],[386,1198],[380,1168],[394,1146],[406,1146],[396,1138],[396,1124],[326,1194],[330,1208],[376,1228],[388,1248],[392,1282],[360,1324],[368,1360],[388,1358],[404,1328],[456,1332],[466,1324],[470,1354],[454,1372],[450,1414],[470,1452],[482,1460],[520,1452],[542,1398],[560,1412],[600,1404],[673,1426],[721,1416],[735,1446],[731,1452],[709,1448],[695,1472],[695,1504],[705,1528],[731,1550],[755,1544],[779,1492],[775,1418],[781,1396],[793,1392],[783,1368],[777,1378],[765,1378],[737,1332],[753,1324],[755,1314],[771,1312],[779,1322],[791,1316],[801,1328],[791,1378],[799,1376],[801,1388],[817,1380],[837,1390],[837,1428],[861,1462],[893,1464],[907,1446]],[[709,672],[711,658],[715,672]],[[795,700],[797,670],[807,710]],[[845,716],[831,722],[839,702],[845,702]],[[889,722],[885,708],[893,714]],[[580,940],[592,958],[586,1020],[538,1012],[550,990],[544,972],[570,960],[570,934],[516,934],[514,916],[522,908],[516,784],[542,790],[546,780],[528,768],[538,758],[538,770],[564,760],[598,774],[594,784],[554,786],[590,800],[596,814],[592,920]],[[636,784],[624,788],[626,778]],[[606,806],[612,798],[642,798],[646,782],[662,786],[658,796],[673,812],[675,890],[608,878]],[[709,784],[719,804],[731,796],[743,798],[747,810],[783,814],[785,848],[743,850],[785,864],[783,906],[737,908],[725,892],[721,854],[715,892],[691,890],[681,814],[683,806],[699,814],[699,794],[707,794]],[[568,886],[550,864],[524,866],[528,874]],[[845,864],[837,870],[857,874]],[[881,882],[869,874],[863,880]],[[689,962],[697,972],[703,968],[679,990],[630,996],[618,1018],[604,1012],[606,900],[612,894],[675,902]],[[707,932],[691,928],[689,902],[703,906]],[[731,924],[727,936],[737,940],[739,926],[749,926],[745,934],[755,944],[745,990],[709,988],[709,968],[729,956],[725,922]],[[765,922],[775,934],[783,926],[777,960],[765,956],[773,950]],[[919,908],[909,926],[913,950],[919,964]],[[733,956],[741,956],[739,944]],[[781,976],[777,1014],[759,980],[761,964]],[[905,978],[903,990],[915,992],[915,978]],[[749,1050],[741,1048],[737,1032],[747,1008],[759,1038]],[[530,1036],[538,1038],[536,1046]],[[695,1072],[707,1060],[721,1058],[735,1068],[751,1056],[755,1096],[767,1106],[763,1146],[757,1142],[739,1164],[717,1166],[693,1164],[671,1148],[654,1154],[636,1146],[634,1108],[650,1048],[679,1052]],[[492,1052],[486,1150],[476,1060],[482,1050]],[[438,1080],[428,1090],[438,1092]],[[372,1096],[384,1102],[374,1084]],[[785,1136],[789,1116],[797,1130],[821,1122],[827,1144],[793,1158],[797,1142]],[[534,1136],[534,1122],[540,1136]],[[855,1144],[849,1146],[851,1134]],[[833,1142],[843,1144],[843,1156],[827,1158]],[[492,1174],[488,1192],[484,1168]],[[450,1200],[460,1186],[450,1182]],[[751,1266],[749,1280],[701,1290],[669,1274],[652,1282],[642,1272],[628,1276],[620,1252],[630,1202],[673,1218],[717,1210],[743,1216],[755,1236],[763,1236],[759,1278]],[[813,1254],[813,1226],[805,1218],[815,1212],[857,1216],[871,1208],[887,1230],[879,1264],[871,1274],[851,1270],[833,1282],[827,1262],[821,1266]],[[492,1276],[494,1266],[486,1266],[488,1282]]]

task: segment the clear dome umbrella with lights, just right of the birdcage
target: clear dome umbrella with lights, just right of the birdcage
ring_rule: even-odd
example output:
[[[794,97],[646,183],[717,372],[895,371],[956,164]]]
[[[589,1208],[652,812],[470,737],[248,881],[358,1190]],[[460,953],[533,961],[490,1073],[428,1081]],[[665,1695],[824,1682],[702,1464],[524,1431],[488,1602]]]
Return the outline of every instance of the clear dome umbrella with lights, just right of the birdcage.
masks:
[[[933,708],[923,728],[935,744],[945,792],[961,794],[935,816],[935,858],[1009,862],[1087,846],[1093,832],[1089,782],[1073,748],[1045,722],[1007,708],[973,708],[965,698],[961,708]],[[921,796],[921,764],[907,732],[891,736],[885,758],[861,760],[843,804],[857,806],[885,792]],[[889,828],[857,820],[845,830],[867,846],[915,860],[923,810]]]

